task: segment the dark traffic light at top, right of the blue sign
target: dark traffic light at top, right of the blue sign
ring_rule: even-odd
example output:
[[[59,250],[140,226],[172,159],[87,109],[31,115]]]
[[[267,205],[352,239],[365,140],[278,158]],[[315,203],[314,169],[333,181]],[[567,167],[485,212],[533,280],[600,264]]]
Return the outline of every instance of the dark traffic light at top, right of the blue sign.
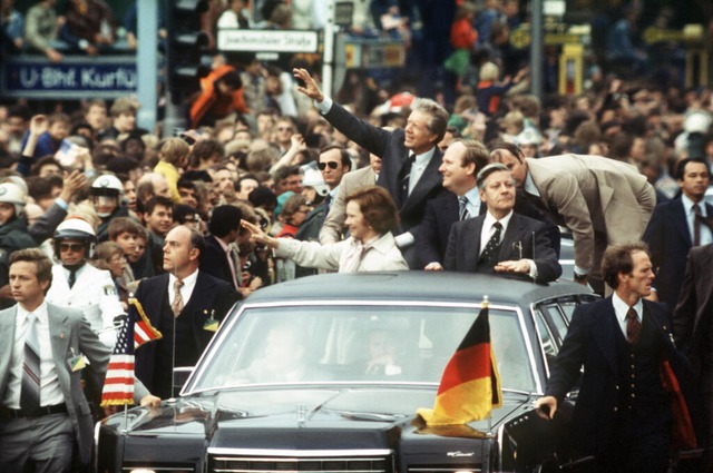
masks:
[[[199,80],[209,71],[208,35],[201,29],[201,17],[208,11],[207,0],[164,0],[166,14],[166,82],[170,100],[182,102],[199,90]],[[208,58],[209,61],[209,58]]]

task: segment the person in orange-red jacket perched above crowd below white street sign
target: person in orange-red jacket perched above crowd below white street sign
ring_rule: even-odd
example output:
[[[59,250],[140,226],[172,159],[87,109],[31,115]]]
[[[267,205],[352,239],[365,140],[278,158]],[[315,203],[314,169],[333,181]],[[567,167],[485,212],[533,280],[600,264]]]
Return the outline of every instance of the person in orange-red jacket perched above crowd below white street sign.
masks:
[[[201,79],[201,95],[191,107],[191,128],[213,126],[215,120],[233,112],[248,111],[243,98],[243,81],[237,70],[229,65],[215,65]]]

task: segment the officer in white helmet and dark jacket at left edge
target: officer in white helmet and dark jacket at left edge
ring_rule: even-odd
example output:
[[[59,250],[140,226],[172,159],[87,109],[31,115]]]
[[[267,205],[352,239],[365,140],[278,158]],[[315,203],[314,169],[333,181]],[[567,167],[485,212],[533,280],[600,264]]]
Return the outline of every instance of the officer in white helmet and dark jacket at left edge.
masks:
[[[0,184],[0,308],[14,304],[10,297],[8,279],[10,254],[18,249],[37,246],[22,218],[26,203],[27,194],[19,185]]]

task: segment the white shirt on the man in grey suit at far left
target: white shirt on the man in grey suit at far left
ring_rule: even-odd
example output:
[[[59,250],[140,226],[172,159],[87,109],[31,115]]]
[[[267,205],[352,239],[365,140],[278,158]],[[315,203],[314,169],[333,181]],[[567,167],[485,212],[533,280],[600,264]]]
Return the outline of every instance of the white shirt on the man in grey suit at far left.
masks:
[[[22,391],[22,359],[25,358],[25,338],[30,328],[29,313],[17,305],[18,313],[14,321],[14,339],[12,341],[12,359],[10,361],[10,376],[8,388],[2,398],[2,405],[20,408],[20,393]],[[65,395],[59,385],[59,376],[55,368],[55,357],[49,335],[47,303],[42,303],[32,312],[37,316],[37,338],[40,349],[40,406],[50,406],[65,402]],[[80,354],[76,354],[80,355]],[[68,362],[65,361],[66,363]]]

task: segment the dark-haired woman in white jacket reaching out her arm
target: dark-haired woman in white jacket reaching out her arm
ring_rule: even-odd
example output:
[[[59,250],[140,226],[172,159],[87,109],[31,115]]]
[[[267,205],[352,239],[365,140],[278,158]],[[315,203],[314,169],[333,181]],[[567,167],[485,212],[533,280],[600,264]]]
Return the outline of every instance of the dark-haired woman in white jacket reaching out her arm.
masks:
[[[300,266],[338,269],[340,273],[408,269],[391,230],[399,214],[389,193],[378,186],[363,187],[345,199],[350,237],[334,245],[273,238],[258,226],[243,220],[251,239],[275,249],[275,256],[290,258]]]

